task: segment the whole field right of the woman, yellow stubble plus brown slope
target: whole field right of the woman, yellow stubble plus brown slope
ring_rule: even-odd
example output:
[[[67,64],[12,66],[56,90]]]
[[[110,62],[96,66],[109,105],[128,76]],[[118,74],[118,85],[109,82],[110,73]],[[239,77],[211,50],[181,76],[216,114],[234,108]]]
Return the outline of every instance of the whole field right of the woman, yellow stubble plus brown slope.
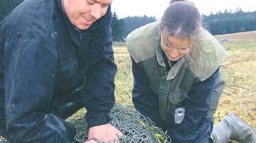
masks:
[[[221,44],[230,49],[223,63],[226,66],[222,68],[226,88],[215,114],[216,122],[234,111],[256,128],[256,31],[215,37],[217,40],[228,38],[228,42]]]

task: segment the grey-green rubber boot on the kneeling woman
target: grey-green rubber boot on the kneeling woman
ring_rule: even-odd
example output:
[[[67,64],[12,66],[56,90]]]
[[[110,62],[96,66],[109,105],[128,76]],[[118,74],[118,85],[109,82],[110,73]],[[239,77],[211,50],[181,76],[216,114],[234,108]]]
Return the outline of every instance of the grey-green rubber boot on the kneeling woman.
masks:
[[[213,143],[228,143],[229,140],[256,143],[256,130],[230,113],[213,126],[212,139]]]

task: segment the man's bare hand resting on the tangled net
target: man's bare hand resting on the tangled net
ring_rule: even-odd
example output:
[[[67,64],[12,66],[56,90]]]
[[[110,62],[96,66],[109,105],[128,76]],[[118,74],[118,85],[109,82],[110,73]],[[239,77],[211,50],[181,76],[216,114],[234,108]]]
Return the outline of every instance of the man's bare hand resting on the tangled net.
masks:
[[[108,142],[117,137],[123,137],[123,134],[115,127],[111,126],[111,124],[91,127],[88,132],[88,139],[95,138],[104,142]],[[96,143],[96,141],[91,140],[85,143]]]

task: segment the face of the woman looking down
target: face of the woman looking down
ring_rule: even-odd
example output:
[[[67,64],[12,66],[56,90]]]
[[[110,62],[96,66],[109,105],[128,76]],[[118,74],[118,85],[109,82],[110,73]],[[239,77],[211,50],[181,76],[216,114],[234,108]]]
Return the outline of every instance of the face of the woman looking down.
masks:
[[[171,61],[177,61],[190,51],[190,40],[181,39],[169,35],[165,30],[161,34],[161,46],[166,57]]]

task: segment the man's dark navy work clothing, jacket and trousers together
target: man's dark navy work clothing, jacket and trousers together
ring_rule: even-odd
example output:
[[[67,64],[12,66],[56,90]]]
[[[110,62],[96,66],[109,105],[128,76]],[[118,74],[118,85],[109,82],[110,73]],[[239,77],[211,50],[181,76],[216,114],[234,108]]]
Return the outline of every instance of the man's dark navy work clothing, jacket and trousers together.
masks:
[[[17,143],[69,143],[78,109],[88,126],[108,123],[114,105],[111,8],[85,31],[61,0],[26,0],[0,23],[0,126]]]

